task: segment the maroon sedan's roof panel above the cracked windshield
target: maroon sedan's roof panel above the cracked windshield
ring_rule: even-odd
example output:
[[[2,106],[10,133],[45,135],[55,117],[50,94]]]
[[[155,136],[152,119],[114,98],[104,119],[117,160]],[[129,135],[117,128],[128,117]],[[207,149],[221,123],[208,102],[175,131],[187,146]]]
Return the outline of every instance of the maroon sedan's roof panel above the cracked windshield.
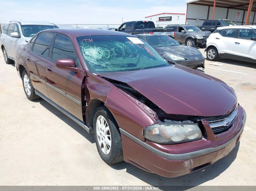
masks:
[[[54,33],[61,33],[67,35],[69,37],[82,37],[82,36],[128,36],[133,37],[133,35],[115,31],[115,30],[105,30],[105,29],[87,29],[87,28],[67,28],[67,29],[46,29],[42,30],[42,32],[54,32]]]

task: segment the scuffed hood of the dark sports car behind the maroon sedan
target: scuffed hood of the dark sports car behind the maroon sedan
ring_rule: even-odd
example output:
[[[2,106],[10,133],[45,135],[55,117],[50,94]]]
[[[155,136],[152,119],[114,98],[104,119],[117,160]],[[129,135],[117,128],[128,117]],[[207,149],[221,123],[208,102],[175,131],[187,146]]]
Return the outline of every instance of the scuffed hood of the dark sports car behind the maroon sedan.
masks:
[[[193,56],[193,55],[202,55],[201,52],[195,47],[189,47],[185,45],[179,46],[162,46],[162,47],[153,47],[158,53],[159,52],[168,52],[177,56]]]

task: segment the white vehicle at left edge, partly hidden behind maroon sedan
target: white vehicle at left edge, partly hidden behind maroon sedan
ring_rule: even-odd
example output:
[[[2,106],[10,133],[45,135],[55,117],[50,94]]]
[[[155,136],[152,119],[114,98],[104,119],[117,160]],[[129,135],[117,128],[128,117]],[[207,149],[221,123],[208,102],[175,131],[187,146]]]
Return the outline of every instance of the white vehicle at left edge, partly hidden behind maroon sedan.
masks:
[[[45,29],[58,28],[49,22],[11,21],[6,24],[0,35],[6,64],[12,64],[16,57],[16,51],[20,45],[26,44],[36,33]]]

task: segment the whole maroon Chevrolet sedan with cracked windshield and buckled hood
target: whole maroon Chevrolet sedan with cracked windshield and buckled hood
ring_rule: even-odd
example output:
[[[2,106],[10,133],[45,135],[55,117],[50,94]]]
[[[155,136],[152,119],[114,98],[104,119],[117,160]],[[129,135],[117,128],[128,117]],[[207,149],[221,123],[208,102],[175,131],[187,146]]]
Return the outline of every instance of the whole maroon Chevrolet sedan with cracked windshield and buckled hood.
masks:
[[[246,115],[223,81],[170,65],[132,35],[49,29],[16,55],[29,100],[43,98],[94,133],[108,164],[177,177],[226,156]]]

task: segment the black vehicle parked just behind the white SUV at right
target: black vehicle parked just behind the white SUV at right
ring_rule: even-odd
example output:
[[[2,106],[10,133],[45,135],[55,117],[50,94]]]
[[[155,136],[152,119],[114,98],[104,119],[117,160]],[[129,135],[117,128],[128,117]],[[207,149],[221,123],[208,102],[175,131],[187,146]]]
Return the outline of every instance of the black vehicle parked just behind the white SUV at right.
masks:
[[[211,31],[214,32],[218,27],[226,27],[229,25],[236,25],[234,22],[228,19],[214,19],[214,20],[205,20],[202,26],[197,26],[202,31]]]

